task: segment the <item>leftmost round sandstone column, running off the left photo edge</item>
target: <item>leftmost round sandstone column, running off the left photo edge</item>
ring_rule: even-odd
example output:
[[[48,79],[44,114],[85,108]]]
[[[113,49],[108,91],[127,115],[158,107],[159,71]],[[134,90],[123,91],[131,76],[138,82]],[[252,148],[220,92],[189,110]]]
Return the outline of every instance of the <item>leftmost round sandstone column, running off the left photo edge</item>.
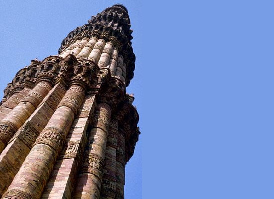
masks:
[[[51,89],[52,85],[49,82],[38,82],[21,102],[0,121],[0,152]]]

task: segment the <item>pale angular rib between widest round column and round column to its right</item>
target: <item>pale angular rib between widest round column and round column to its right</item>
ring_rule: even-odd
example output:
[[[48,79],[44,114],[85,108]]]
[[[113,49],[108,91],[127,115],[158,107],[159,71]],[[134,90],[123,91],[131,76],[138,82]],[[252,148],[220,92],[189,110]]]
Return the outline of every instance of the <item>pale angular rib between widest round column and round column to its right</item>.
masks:
[[[65,147],[54,165],[41,199],[72,198],[74,185],[77,184],[77,171],[82,166],[84,147],[88,141],[88,125],[94,117],[95,107],[95,94],[87,96],[80,114],[73,121]]]

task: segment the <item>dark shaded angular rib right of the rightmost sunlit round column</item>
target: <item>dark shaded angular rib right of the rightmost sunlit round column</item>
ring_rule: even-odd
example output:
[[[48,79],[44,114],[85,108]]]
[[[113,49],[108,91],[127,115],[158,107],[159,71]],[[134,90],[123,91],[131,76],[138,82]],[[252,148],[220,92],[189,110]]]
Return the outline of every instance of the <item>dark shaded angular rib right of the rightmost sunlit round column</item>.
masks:
[[[115,199],[117,135],[118,120],[112,118],[109,125],[109,136],[107,141],[104,176],[100,199]]]

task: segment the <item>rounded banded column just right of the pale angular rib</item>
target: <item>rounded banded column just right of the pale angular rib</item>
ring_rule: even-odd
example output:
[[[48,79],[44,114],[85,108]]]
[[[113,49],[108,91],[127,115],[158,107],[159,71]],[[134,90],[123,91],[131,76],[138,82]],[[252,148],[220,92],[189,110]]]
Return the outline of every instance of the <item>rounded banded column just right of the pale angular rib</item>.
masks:
[[[108,137],[108,123],[111,108],[107,103],[100,103],[96,111],[96,124],[91,129],[89,149],[82,170],[77,180],[73,199],[99,199],[103,179],[103,167]]]

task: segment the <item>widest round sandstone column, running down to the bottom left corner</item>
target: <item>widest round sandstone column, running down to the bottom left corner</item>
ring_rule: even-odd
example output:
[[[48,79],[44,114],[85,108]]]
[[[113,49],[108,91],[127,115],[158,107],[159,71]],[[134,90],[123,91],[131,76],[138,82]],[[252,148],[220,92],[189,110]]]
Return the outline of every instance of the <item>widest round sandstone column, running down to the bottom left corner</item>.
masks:
[[[40,199],[66,135],[85,97],[72,85],[40,133],[3,199]]]

